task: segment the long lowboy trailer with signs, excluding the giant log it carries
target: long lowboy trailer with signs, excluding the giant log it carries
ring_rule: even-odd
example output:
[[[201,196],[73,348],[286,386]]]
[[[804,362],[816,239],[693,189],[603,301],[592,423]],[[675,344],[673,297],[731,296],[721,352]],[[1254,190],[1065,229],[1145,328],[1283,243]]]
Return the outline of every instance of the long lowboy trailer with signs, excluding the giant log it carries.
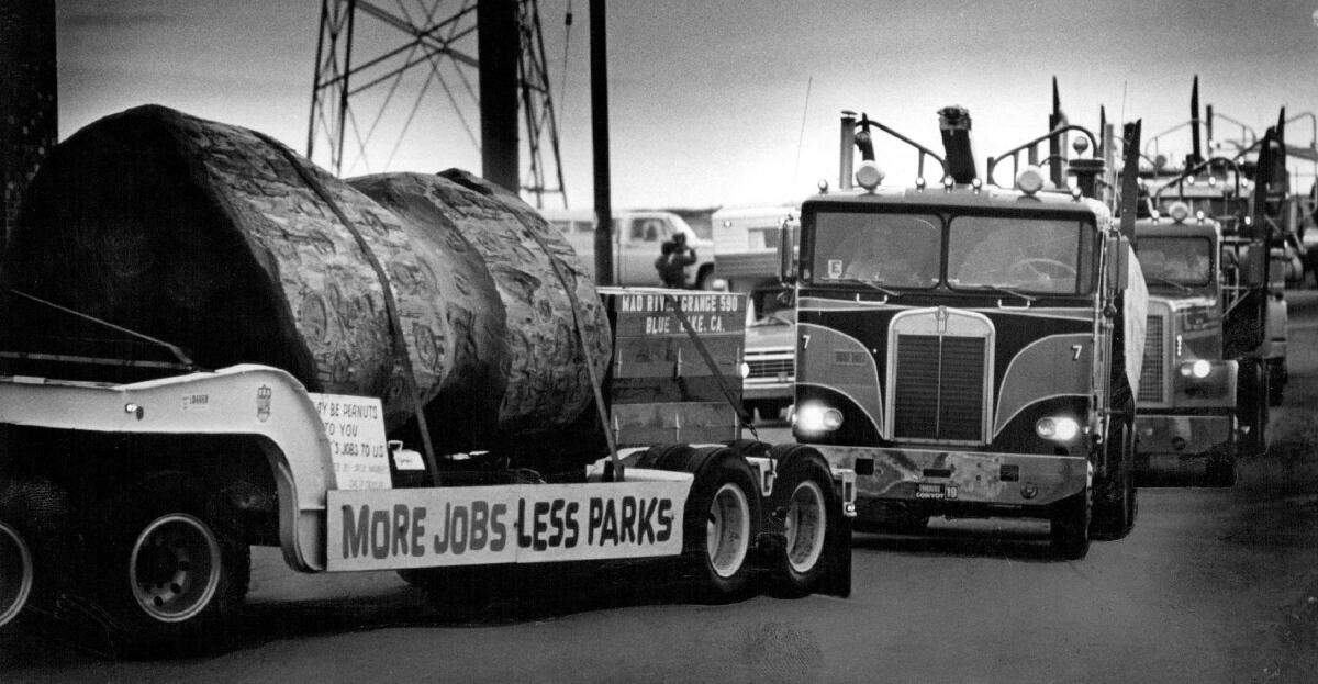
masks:
[[[702,347],[693,328],[722,326],[720,302],[702,320],[689,311],[712,295],[613,294],[616,335],[643,319],[664,335],[621,343],[612,376],[623,362],[656,374],[673,353],[667,382],[720,365],[681,352]],[[310,393],[269,366],[125,384],[0,374],[0,626],[72,593],[123,647],[204,643],[241,604],[249,546],[279,547],[298,572],[398,571],[430,592],[498,565],[670,557],[704,597],[762,580],[846,596],[854,474],[812,447],[737,439],[735,424],[683,432],[683,416],[730,415],[683,398],[614,402],[617,453],[547,480],[467,470],[472,455],[431,472],[386,439],[378,398]],[[687,439],[662,439],[673,422]]]

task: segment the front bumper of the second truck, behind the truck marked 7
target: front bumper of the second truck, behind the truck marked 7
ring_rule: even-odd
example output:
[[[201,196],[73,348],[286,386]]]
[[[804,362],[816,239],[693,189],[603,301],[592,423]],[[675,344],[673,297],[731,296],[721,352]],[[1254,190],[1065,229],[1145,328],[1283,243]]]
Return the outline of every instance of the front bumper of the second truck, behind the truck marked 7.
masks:
[[[1224,414],[1136,415],[1136,467],[1157,469],[1228,453],[1235,428],[1235,416]]]

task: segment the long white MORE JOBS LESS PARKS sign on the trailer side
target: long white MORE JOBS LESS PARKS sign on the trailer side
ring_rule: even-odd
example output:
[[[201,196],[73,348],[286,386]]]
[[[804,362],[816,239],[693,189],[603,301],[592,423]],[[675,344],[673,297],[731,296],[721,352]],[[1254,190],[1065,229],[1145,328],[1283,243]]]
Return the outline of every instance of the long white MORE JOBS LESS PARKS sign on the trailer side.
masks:
[[[660,476],[621,484],[331,490],[327,568],[676,555],[692,480]]]

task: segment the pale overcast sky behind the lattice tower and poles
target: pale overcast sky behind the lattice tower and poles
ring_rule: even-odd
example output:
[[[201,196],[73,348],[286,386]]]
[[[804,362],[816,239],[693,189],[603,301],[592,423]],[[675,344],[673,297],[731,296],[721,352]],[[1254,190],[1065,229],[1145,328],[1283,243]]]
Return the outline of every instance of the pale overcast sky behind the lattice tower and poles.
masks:
[[[414,17],[434,5],[373,1]],[[266,132],[306,153],[320,5],[57,0],[61,137],[101,116],[158,103]],[[575,21],[567,33],[569,5]],[[439,3],[436,16],[459,7],[459,0]],[[588,207],[589,0],[540,0],[539,7],[567,198]],[[613,203],[800,202],[817,179],[837,182],[837,115],[846,108],[941,152],[934,112],[962,104],[974,120],[982,169],[983,157],[1045,132],[1053,75],[1073,124],[1097,128],[1104,104],[1110,120],[1123,112],[1126,120],[1144,117],[1147,138],[1189,117],[1190,80],[1198,74],[1202,104],[1261,134],[1282,105],[1288,116],[1318,111],[1315,16],[1318,0],[613,0]],[[403,42],[374,20],[361,18],[358,26],[358,63]],[[468,51],[474,54],[474,38]],[[355,96],[362,128],[386,113],[365,161],[349,158],[345,175],[449,166],[480,171],[467,132],[478,134],[474,104],[455,67],[445,69],[457,105],[432,82],[406,134],[403,123],[427,71],[411,71],[387,108],[378,104],[387,88]],[[1311,119],[1293,123],[1288,142],[1309,145],[1313,127]],[[1218,137],[1238,130],[1219,123]],[[1184,156],[1189,138],[1168,136],[1161,150]],[[320,152],[315,159],[324,165]],[[879,157],[888,183],[913,179],[915,157],[903,148],[880,138]]]

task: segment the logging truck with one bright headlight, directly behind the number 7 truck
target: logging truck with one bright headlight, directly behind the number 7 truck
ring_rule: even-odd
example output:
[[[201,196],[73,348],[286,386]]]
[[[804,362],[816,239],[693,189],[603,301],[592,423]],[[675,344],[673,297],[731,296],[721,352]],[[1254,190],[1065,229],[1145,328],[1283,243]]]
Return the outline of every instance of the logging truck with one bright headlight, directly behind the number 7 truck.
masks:
[[[1197,92],[1197,90],[1195,90]],[[1191,101],[1197,103],[1197,98]],[[1139,387],[1139,469],[1231,486],[1267,448],[1268,406],[1286,382],[1285,260],[1278,228],[1285,146],[1269,128],[1249,163],[1198,158],[1145,179],[1136,252],[1149,287]],[[1191,130],[1198,138],[1197,117]],[[1280,261],[1280,262],[1278,262]]]

